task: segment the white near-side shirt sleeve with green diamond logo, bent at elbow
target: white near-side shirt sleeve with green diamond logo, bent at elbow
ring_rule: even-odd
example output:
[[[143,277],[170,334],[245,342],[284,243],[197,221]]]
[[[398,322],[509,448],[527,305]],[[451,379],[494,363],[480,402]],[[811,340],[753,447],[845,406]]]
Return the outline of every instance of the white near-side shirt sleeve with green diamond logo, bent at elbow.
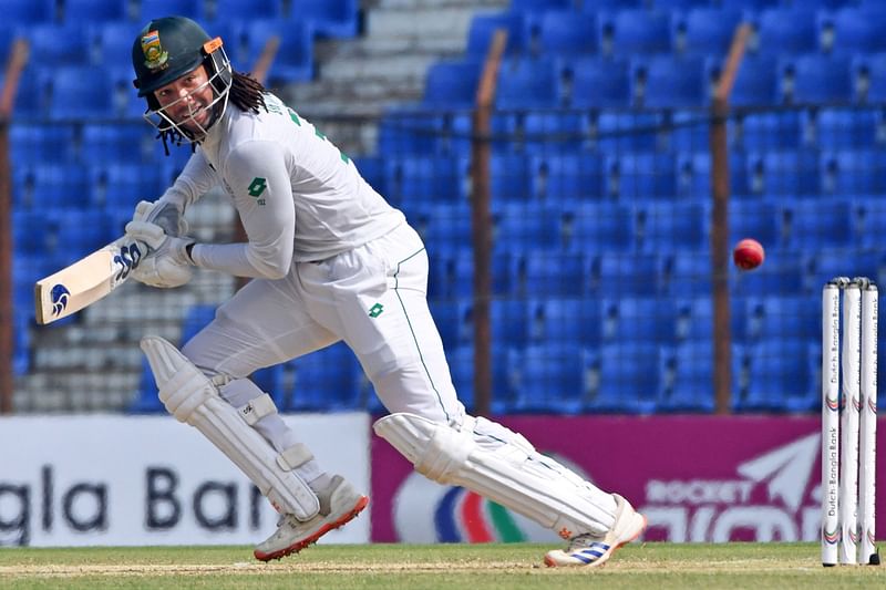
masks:
[[[224,176],[248,241],[198,244],[192,250],[194,263],[237,277],[285,277],[292,262],[296,206],[280,146],[259,139],[237,146]]]

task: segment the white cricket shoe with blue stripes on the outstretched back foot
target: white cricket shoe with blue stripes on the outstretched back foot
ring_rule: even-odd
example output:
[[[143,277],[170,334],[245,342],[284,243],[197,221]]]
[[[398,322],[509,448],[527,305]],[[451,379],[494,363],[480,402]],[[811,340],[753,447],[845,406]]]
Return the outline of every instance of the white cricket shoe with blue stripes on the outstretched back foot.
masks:
[[[548,551],[545,556],[547,567],[602,566],[616,549],[632,541],[646,530],[646,517],[618,494],[612,494],[612,497],[616,499],[616,519],[612,528],[604,535],[593,532],[577,535],[569,540],[569,548],[565,551],[560,549]]]

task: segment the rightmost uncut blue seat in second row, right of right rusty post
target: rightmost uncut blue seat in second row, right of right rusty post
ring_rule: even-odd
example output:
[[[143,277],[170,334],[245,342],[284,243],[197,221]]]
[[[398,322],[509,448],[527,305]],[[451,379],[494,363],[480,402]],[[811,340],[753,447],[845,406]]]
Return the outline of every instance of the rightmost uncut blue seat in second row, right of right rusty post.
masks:
[[[846,103],[854,97],[847,56],[812,53],[784,58],[780,71],[785,80],[793,77],[790,99],[795,104]]]

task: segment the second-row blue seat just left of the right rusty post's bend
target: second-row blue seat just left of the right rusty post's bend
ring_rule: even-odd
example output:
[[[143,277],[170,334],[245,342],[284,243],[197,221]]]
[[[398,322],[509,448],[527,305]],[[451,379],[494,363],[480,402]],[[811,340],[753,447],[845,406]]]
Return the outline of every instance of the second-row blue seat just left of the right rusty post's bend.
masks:
[[[633,99],[649,108],[684,108],[709,103],[701,58],[656,55],[631,62]]]

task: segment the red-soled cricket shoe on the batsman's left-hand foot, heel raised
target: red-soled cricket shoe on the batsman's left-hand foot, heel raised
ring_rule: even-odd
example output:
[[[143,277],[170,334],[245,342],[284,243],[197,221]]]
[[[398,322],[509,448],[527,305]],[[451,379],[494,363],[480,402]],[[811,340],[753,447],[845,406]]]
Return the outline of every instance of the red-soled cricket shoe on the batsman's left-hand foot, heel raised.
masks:
[[[309,520],[284,515],[277,530],[256,546],[256,559],[270,561],[297,553],[317,542],[317,539],[351,521],[369,504],[369,497],[359,494],[340,475],[332,477],[329,486],[317,493],[320,511]]]

